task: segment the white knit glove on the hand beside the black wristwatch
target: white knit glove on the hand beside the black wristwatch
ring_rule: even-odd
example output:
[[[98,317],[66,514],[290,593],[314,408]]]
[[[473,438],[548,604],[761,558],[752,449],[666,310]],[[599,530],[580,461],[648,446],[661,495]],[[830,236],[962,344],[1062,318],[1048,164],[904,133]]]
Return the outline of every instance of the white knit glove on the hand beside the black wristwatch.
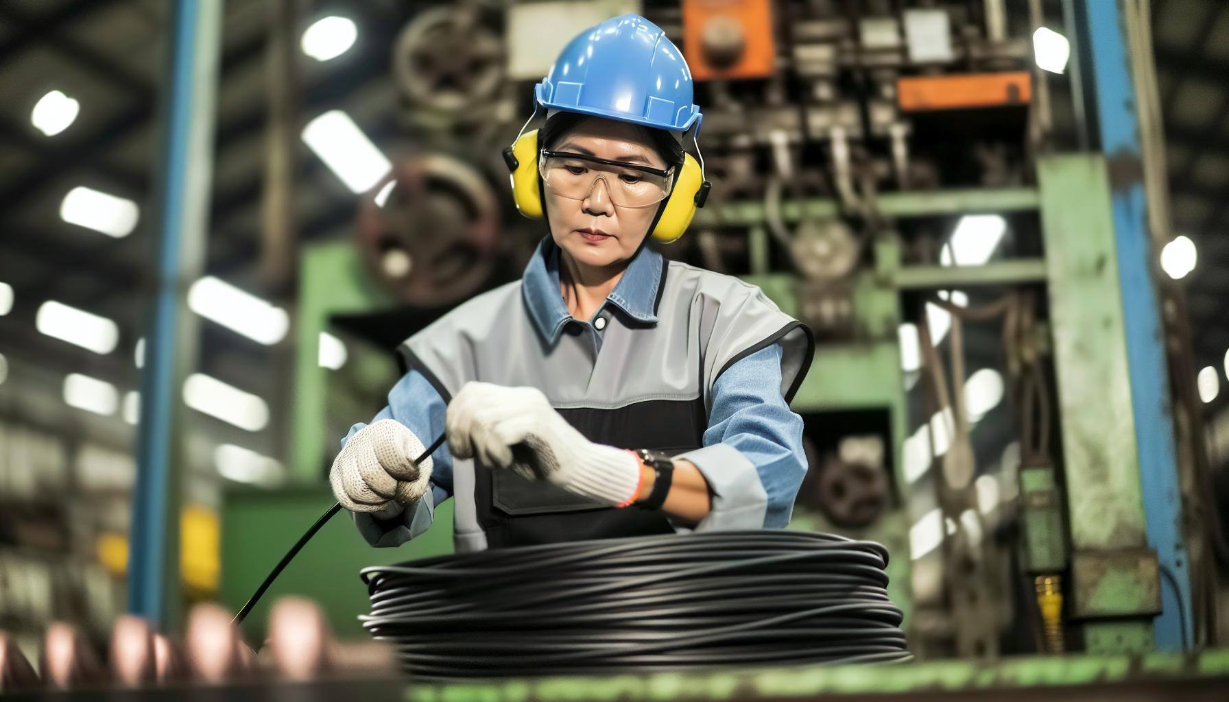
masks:
[[[640,488],[634,454],[585,439],[536,387],[467,382],[449,403],[446,424],[458,459],[511,467],[610,505],[630,504]]]

